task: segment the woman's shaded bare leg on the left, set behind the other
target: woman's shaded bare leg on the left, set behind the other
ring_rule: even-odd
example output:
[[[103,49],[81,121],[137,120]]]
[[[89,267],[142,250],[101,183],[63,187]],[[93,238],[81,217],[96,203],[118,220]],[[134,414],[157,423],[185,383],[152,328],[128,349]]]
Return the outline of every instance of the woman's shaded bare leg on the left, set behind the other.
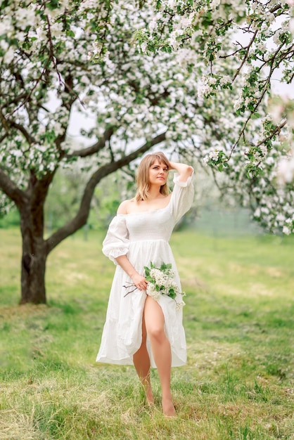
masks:
[[[142,344],[138,351],[133,356],[136,373],[141,380],[141,384],[146,392],[148,403],[153,403],[153,393],[151,389],[150,380],[150,358],[146,347],[146,325],[143,314],[142,320]]]

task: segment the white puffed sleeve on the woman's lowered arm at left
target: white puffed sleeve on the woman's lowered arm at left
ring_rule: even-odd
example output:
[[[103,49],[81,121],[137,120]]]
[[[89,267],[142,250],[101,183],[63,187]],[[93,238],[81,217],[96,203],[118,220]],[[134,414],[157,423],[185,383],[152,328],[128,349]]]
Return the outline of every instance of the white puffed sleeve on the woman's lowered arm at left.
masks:
[[[106,238],[102,243],[102,252],[114,264],[115,258],[127,254],[129,250],[129,233],[127,230],[126,219],[123,214],[117,214],[110,222]]]

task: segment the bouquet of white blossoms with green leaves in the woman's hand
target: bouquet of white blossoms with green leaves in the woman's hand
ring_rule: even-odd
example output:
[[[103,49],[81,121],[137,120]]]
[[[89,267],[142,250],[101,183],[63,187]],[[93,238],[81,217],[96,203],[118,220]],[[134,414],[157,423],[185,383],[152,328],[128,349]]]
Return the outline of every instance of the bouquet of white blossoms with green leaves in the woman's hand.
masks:
[[[155,265],[150,263],[150,267],[144,266],[145,269],[145,278],[148,281],[146,293],[155,299],[156,301],[160,299],[160,295],[166,295],[174,299],[177,304],[177,309],[181,309],[185,305],[184,301],[177,302],[177,295],[182,295],[184,297],[185,292],[180,292],[177,283],[174,281],[174,271],[172,270],[172,264],[162,263],[160,268],[155,267]],[[130,284],[124,287],[127,289],[132,287],[132,290],[126,293],[127,296],[129,293],[134,292],[136,290],[136,286],[134,284]]]

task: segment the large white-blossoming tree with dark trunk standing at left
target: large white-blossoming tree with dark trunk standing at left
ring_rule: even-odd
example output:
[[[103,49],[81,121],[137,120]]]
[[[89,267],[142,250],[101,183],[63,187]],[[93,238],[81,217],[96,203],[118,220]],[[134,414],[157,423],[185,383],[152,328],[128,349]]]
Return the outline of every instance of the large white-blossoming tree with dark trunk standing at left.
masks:
[[[46,302],[46,259],[87,222],[99,181],[158,144],[224,169],[267,228],[293,231],[292,183],[274,181],[290,142],[290,104],[280,105],[278,122],[267,115],[274,72],[283,66],[282,79],[293,79],[290,32],[271,30],[289,7],[277,5],[235,1],[231,15],[232,4],[203,0],[2,1],[0,209],[13,202],[20,212],[21,302]],[[237,25],[251,39],[234,46]],[[73,112],[96,117],[75,149]],[[50,185],[76,160],[91,168],[79,209],[46,238]]]

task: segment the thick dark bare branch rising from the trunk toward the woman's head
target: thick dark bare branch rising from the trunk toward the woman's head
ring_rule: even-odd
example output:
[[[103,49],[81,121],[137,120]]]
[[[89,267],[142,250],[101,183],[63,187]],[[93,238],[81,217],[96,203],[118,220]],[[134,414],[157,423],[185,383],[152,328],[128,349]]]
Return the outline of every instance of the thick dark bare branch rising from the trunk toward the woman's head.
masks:
[[[53,233],[51,237],[46,240],[47,254],[49,254],[49,252],[51,252],[51,250],[53,250],[54,247],[56,247],[61,241],[63,241],[69,235],[75,233],[79,228],[87,223],[91,207],[91,199],[94,194],[94,190],[101,179],[108,176],[108,174],[115,172],[117,169],[124,167],[124,165],[129,164],[129,162],[132,162],[132,160],[135,160],[143,153],[146,153],[146,151],[150,150],[154,145],[158,145],[158,143],[161,143],[163,141],[165,141],[165,133],[155,136],[155,138],[151,139],[151,141],[147,141],[146,143],[144,143],[144,145],[142,145],[137,150],[134,150],[129,155],[121,157],[120,160],[117,160],[116,162],[110,162],[98,168],[97,171],[92,174],[84,189],[84,195],[82,196],[82,200],[76,216],[71,221],[69,221],[68,224],[65,224],[65,226],[58,229],[58,231]]]

